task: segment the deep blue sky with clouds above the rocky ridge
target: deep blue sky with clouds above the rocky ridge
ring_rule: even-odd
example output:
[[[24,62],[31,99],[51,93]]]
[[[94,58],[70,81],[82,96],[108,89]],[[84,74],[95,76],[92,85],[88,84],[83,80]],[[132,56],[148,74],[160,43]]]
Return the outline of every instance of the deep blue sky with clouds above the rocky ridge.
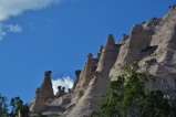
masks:
[[[175,0],[0,0],[0,93],[31,102],[52,71],[71,85],[86,55],[110,33],[120,40],[133,24],[168,12]],[[61,79],[64,77],[64,79]],[[68,83],[68,84],[66,84]]]

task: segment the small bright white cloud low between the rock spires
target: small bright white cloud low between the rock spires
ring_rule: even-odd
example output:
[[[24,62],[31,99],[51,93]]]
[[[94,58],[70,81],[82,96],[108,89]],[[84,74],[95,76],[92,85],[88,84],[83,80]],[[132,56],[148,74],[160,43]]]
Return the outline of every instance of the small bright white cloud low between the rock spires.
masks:
[[[62,87],[64,86],[65,91],[68,91],[68,88],[72,88],[73,79],[69,76],[52,79],[52,87],[53,87],[54,94],[58,92],[58,86],[62,86]]]

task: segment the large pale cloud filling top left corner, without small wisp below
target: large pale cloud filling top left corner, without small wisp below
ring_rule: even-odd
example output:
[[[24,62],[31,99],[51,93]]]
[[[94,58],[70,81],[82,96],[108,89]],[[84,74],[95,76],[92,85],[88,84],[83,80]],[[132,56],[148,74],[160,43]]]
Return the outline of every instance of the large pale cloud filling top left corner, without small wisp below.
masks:
[[[62,0],[0,0],[0,21],[21,14],[25,10],[38,10]]]

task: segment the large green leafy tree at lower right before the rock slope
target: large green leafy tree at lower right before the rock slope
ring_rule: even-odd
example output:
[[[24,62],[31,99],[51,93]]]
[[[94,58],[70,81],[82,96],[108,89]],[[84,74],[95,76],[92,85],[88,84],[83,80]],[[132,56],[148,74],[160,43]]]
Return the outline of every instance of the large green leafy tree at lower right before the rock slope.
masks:
[[[149,76],[136,72],[137,64],[125,68],[123,75],[111,82],[104,100],[91,117],[173,117],[173,109],[162,91],[145,87]]]

